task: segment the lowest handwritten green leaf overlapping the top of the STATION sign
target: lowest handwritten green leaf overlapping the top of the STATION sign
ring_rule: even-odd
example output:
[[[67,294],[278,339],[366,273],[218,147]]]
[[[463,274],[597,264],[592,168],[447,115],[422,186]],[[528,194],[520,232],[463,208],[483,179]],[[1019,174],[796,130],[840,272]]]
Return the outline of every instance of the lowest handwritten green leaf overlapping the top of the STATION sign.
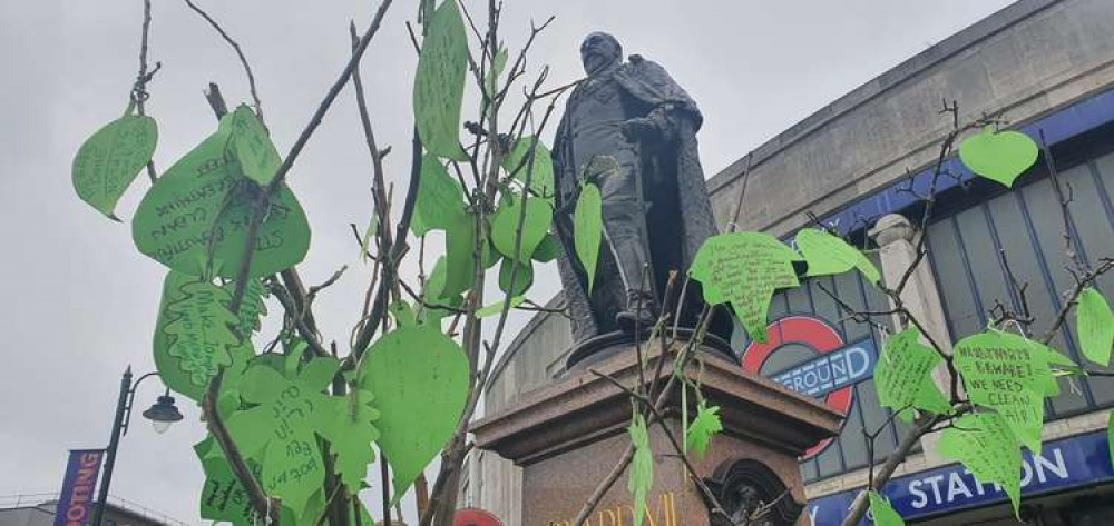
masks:
[[[959,460],[981,483],[1006,492],[1017,515],[1022,499],[1022,449],[1009,425],[993,413],[966,415],[940,437],[940,455]]]

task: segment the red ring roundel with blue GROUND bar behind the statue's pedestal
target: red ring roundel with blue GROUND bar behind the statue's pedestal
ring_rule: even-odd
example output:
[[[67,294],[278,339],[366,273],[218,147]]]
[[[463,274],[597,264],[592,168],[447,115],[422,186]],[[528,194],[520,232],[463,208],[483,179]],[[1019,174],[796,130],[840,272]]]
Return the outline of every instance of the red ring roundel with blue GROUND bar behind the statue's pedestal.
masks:
[[[822,398],[836,410],[847,414],[854,397],[854,384],[871,378],[878,361],[873,339],[866,338],[847,345],[840,334],[822,319],[788,316],[766,327],[766,343],[751,341],[743,351],[743,370],[760,374],[762,366],[778,349],[790,344],[804,345],[817,358],[789,369],[765,375],[770,379],[803,395]],[[832,438],[809,448],[802,458],[824,450]]]

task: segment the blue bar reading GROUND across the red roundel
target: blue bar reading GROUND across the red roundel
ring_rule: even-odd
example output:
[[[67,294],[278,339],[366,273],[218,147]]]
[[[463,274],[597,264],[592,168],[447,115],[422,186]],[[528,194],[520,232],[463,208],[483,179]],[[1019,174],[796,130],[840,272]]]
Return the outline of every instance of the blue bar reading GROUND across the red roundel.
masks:
[[[770,379],[802,395],[819,398],[873,377],[876,364],[878,349],[874,348],[874,340],[867,338],[788,370],[774,373],[770,375]]]

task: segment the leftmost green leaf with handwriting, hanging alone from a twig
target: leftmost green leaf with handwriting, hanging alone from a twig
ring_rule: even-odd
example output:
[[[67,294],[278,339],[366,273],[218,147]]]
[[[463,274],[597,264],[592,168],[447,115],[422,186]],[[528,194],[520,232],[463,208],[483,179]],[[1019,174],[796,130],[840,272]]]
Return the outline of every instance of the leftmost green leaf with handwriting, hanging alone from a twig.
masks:
[[[158,125],[150,117],[126,115],[86,139],[74,157],[71,175],[78,197],[116,219],[120,200],[158,141]]]

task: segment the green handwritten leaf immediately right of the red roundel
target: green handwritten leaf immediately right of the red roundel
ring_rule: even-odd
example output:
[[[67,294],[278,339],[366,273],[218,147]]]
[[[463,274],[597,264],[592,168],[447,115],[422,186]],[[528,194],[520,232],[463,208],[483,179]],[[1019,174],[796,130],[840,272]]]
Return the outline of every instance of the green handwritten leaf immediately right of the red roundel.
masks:
[[[879,404],[901,411],[899,417],[906,421],[911,420],[912,415],[902,409],[934,414],[951,411],[951,405],[932,381],[932,370],[942,358],[919,340],[920,330],[913,326],[891,336],[874,367]]]

